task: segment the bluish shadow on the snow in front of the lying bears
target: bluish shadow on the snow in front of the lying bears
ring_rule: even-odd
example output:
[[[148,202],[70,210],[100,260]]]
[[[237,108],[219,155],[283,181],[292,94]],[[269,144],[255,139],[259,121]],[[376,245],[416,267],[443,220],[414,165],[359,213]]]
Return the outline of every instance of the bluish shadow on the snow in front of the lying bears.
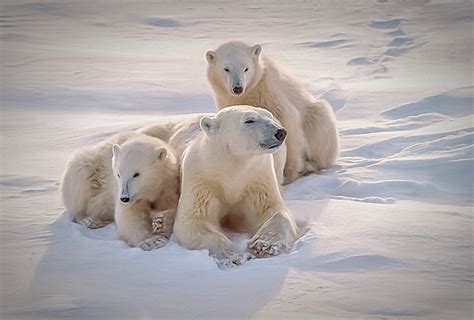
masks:
[[[91,230],[64,213],[49,227],[32,305],[17,316],[248,318],[280,292],[292,260],[283,255],[220,270],[207,250],[186,250],[173,238],[145,252],[118,240],[114,224]]]

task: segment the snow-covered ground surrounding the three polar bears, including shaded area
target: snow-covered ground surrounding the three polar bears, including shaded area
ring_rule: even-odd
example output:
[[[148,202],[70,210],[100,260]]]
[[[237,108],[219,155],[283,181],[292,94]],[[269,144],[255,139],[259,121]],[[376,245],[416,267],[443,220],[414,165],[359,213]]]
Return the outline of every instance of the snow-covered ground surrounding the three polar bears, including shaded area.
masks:
[[[473,5],[3,1],[2,319],[473,317]],[[219,270],[64,214],[73,150],[215,110],[205,52],[263,51],[336,111],[337,164],[284,190],[294,250]],[[243,246],[245,237],[237,237]]]

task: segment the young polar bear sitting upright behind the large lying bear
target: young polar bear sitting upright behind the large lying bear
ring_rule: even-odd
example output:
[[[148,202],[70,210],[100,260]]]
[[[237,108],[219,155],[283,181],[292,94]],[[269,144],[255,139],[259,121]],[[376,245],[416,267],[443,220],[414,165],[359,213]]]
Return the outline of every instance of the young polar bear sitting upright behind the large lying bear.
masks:
[[[272,60],[260,45],[228,42],[208,51],[207,77],[218,109],[246,104],[265,108],[288,130],[285,182],[329,168],[339,153],[334,113]]]

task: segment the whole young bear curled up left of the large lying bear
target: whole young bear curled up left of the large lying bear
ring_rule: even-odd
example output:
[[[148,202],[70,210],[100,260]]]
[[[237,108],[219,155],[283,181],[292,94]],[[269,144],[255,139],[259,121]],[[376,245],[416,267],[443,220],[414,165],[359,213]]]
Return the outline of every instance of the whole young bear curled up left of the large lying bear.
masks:
[[[165,142],[135,132],[118,133],[74,153],[61,193],[76,222],[99,228],[115,214],[119,238],[151,250],[164,245],[172,233],[179,165]]]

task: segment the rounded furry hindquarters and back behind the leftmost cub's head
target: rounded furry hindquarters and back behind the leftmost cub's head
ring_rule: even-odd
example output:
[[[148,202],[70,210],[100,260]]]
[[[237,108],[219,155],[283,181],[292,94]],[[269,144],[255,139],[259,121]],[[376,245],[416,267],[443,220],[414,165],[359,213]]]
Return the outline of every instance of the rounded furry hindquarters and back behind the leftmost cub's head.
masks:
[[[136,136],[120,132],[93,147],[73,153],[61,179],[61,196],[73,220],[89,228],[100,228],[114,220],[112,146]]]

